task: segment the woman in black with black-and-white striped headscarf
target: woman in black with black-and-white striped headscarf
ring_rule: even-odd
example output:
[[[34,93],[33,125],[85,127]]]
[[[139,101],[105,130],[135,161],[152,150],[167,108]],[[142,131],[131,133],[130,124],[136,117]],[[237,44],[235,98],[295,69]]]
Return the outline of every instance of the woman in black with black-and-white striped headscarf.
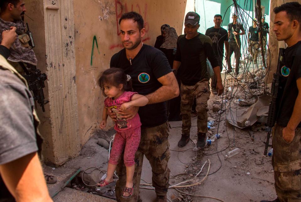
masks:
[[[177,51],[177,41],[178,41],[178,35],[177,32],[175,31],[175,28],[173,27],[167,28],[164,41],[160,46],[160,50],[166,55],[166,58],[168,59],[171,68],[174,63],[175,53]],[[180,86],[180,79],[177,78],[177,80]],[[180,104],[181,104],[180,95],[176,98],[166,101],[167,115],[169,121],[181,121]]]

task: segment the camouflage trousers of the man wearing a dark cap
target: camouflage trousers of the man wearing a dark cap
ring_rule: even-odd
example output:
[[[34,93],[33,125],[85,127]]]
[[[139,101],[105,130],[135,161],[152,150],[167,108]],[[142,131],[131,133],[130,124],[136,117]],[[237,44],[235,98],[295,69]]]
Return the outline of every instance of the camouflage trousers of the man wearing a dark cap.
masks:
[[[185,86],[181,83],[181,114],[182,133],[190,134],[191,108],[196,98],[197,132],[206,133],[207,128],[207,101],[210,96],[209,81],[200,81],[194,86]]]

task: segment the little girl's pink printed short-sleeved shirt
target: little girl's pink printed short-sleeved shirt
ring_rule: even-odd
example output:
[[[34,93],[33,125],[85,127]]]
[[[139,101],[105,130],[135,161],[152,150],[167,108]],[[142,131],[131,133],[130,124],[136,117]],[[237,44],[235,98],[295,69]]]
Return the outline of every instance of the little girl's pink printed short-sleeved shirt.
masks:
[[[112,112],[116,113],[117,121],[115,123],[114,129],[118,132],[132,130],[141,126],[140,117],[138,113],[131,120],[126,121],[126,119],[120,118],[119,109],[123,103],[130,102],[132,96],[138,94],[136,92],[125,91],[117,99],[105,98],[105,106],[111,109]]]

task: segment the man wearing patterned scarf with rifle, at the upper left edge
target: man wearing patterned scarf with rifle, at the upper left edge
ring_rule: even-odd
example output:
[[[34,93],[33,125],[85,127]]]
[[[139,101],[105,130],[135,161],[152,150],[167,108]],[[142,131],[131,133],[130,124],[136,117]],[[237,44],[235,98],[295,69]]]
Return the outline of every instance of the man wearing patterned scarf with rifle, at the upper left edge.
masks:
[[[48,101],[44,98],[43,87],[45,87],[44,81],[47,77],[46,74],[42,74],[36,68],[37,59],[35,52],[32,50],[34,41],[31,32],[29,30],[25,32],[23,19],[26,8],[24,0],[1,0],[0,9],[0,53],[19,73],[18,75],[26,79],[33,98],[45,111],[44,104]],[[5,32],[17,33],[15,41],[12,45],[10,44],[10,47],[8,43],[4,43],[3,33]],[[45,179],[47,184],[56,183],[56,177],[54,176],[45,174]]]

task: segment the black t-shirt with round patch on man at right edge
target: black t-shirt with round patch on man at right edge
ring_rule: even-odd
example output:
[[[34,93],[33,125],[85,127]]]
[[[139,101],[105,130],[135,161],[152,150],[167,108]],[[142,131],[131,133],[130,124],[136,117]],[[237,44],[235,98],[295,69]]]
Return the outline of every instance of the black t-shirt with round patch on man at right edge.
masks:
[[[281,64],[280,89],[277,100],[277,124],[283,127],[288,125],[288,121],[292,116],[295,101],[298,96],[297,79],[301,77],[301,63],[298,62],[293,66],[293,61],[301,41],[295,45],[286,48]],[[296,58],[300,59],[300,58]]]

